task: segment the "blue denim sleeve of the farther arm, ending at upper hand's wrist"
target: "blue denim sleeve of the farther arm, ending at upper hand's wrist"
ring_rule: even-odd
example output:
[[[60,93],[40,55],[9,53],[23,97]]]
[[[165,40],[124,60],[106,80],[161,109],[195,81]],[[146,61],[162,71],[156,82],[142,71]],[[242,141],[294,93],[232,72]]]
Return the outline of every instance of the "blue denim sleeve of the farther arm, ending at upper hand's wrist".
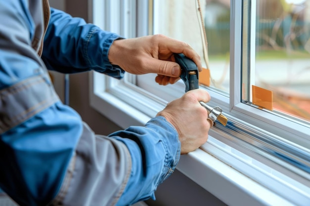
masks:
[[[49,70],[61,73],[95,70],[120,79],[124,71],[111,65],[107,57],[110,45],[117,39],[122,37],[51,8],[42,59]]]

